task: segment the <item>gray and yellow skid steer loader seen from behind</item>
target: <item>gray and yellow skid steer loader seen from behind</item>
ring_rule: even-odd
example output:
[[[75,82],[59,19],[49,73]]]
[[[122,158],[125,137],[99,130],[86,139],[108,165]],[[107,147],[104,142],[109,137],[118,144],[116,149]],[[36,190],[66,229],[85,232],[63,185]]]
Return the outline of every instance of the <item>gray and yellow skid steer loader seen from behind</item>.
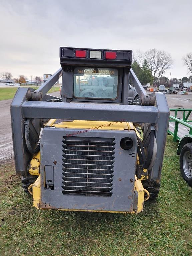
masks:
[[[60,47],[61,68],[11,103],[16,174],[37,209],[139,213],[158,196],[169,109],[131,50]],[[62,76],[62,97],[47,92]],[[130,81],[140,98],[129,101]]]

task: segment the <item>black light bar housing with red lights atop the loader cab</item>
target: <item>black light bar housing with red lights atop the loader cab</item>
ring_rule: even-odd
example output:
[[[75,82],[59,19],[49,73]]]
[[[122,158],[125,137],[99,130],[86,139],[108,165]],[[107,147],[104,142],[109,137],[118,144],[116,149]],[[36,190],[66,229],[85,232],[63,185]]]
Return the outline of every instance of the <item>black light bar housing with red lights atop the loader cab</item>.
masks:
[[[76,52],[83,53],[83,57],[76,56]],[[100,51],[101,58],[90,58],[91,51]],[[106,58],[107,54],[114,55],[112,59]],[[84,67],[122,67],[130,70],[132,50],[107,50],[60,47],[60,64],[63,71],[73,70],[74,66]]]

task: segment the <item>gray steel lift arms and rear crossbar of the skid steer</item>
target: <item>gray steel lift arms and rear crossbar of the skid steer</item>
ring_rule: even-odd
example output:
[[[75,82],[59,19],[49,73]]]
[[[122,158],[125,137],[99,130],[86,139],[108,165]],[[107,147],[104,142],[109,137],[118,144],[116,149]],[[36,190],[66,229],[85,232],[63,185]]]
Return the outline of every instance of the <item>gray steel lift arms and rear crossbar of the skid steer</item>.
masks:
[[[69,72],[69,74],[72,72]],[[149,175],[149,180],[160,180],[164,147],[166,142],[169,108],[164,93],[148,95],[134,74],[133,70],[124,75],[124,89],[122,103],[74,103],[74,102],[49,102],[48,99],[59,99],[46,93],[55,84],[62,74],[60,68],[49,80],[37,90],[31,88],[18,88],[11,103],[11,123],[15,166],[17,175],[28,175],[28,164],[32,158],[27,152],[24,141],[24,121],[27,118],[36,119],[69,119],[69,120],[94,120],[94,121],[120,121],[151,123],[155,126],[157,140],[157,157],[155,165]],[[129,76],[141,98],[142,106],[128,104]],[[151,106],[150,106],[151,105]],[[38,122],[37,122],[38,123]],[[39,129],[37,129],[39,130]]]

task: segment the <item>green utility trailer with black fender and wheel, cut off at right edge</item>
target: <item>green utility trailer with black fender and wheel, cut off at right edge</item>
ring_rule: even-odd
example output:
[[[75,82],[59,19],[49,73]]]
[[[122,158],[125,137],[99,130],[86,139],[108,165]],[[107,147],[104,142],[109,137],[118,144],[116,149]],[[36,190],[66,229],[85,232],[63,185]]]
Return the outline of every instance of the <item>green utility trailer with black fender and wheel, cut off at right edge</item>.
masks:
[[[180,169],[183,179],[192,186],[192,109],[170,109],[168,134],[179,141]]]

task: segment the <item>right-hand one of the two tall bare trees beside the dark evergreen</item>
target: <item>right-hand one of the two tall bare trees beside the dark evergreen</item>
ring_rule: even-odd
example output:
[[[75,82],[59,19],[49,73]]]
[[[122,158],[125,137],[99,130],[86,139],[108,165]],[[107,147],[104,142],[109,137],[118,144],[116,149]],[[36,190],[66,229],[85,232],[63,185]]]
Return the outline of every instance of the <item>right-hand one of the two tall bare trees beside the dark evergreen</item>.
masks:
[[[167,69],[171,68],[173,65],[173,60],[171,58],[171,55],[165,51],[159,51],[159,67],[158,67],[158,77],[159,82],[161,84],[161,78],[167,71]]]

